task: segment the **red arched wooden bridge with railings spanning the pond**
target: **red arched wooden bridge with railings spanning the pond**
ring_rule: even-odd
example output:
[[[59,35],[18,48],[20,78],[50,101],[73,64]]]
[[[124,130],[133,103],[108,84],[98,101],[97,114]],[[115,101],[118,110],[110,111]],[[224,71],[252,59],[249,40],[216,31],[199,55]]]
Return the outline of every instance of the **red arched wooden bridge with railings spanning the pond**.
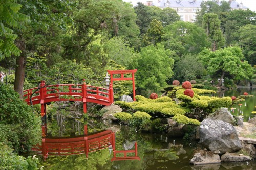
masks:
[[[36,92],[35,92],[36,91]],[[31,97],[31,95],[33,96]],[[83,84],[57,84],[46,85],[41,81],[38,87],[24,91],[23,99],[27,104],[41,104],[41,114],[46,114],[46,103],[57,101],[80,101],[83,102],[83,112],[87,112],[86,103],[92,102],[109,106],[114,102],[113,86],[109,89]]]

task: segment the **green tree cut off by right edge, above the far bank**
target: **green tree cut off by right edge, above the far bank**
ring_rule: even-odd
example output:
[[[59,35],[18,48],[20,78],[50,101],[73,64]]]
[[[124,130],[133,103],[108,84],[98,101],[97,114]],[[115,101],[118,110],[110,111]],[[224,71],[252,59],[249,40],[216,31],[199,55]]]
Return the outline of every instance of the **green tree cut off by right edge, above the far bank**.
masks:
[[[242,50],[245,60],[251,65],[256,65],[256,26],[245,25],[232,34],[233,43],[238,44]]]

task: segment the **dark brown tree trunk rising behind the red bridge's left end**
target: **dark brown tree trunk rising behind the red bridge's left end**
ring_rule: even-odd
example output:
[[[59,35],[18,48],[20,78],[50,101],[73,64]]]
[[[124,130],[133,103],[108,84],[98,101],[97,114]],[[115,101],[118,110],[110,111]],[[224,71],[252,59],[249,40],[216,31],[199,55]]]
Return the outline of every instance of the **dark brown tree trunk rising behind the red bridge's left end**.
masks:
[[[20,99],[23,99],[23,85],[24,85],[25,67],[26,67],[25,61],[26,61],[26,57],[23,53],[16,59],[14,90],[19,93]]]

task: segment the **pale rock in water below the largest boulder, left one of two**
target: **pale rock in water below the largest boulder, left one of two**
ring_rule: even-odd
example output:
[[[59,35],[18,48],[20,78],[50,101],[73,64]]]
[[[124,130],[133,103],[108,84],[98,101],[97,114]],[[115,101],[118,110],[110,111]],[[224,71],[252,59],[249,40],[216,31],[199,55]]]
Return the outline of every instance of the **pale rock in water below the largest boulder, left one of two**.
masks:
[[[190,160],[190,164],[200,165],[200,164],[210,164],[210,163],[220,163],[220,156],[218,154],[214,154],[210,151],[203,150],[201,152],[197,152],[193,158]]]

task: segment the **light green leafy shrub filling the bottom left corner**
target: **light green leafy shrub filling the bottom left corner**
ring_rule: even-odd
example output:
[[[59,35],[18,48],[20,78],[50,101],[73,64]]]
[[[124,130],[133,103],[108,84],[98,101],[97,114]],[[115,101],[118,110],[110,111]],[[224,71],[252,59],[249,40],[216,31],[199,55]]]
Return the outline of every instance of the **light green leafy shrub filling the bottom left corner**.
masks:
[[[36,170],[38,159],[29,156],[27,159],[12,152],[12,149],[0,142],[0,169]]]

